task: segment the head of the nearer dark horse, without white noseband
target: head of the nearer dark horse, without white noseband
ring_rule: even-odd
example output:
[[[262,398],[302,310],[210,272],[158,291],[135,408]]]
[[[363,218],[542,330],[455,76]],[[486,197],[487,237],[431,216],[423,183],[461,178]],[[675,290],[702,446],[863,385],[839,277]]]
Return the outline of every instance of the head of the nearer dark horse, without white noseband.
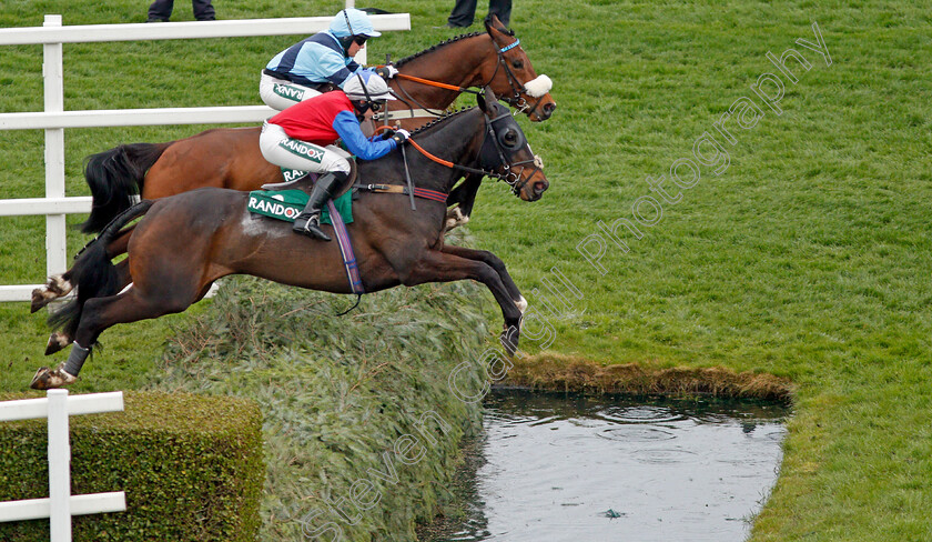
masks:
[[[518,198],[525,201],[539,200],[550,185],[544,177],[540,157],[531,152],[521,127],[508,108],[496,100],[492,89],[486,87],[485,94],[479,94],[477,99],[489,127],[479,152],[483,169],[503,175]]]

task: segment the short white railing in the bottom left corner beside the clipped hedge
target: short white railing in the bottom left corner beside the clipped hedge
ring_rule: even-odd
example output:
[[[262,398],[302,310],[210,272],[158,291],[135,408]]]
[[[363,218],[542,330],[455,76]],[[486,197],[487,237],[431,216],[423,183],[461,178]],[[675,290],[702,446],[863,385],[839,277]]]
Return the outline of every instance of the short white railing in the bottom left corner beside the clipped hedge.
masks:
[[[71,542],[72,515],[125,511],[126,495],[122,491],[71,494],[71,443],[68,433],[69,415],[122,410],[121,391],[68,397],[68,390],[49,390],[44,399],[0,402],[0,422],[49,419],[49,498],[0,502],[0,522],[49,518],[51,542]]]

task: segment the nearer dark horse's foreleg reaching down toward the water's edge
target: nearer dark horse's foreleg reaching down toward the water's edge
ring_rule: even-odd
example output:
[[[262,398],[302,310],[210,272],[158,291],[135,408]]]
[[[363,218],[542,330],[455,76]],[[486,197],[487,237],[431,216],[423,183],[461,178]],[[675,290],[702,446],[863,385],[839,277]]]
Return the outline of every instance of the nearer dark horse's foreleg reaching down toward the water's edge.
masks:
[[[479,281],[492,291],[505,318],[502,344],[508,353],[514,354],[518,349],[521,311],[508,293],[502,277],[488,263],[448,252],[429,251],[414,264],[404,284],[411,287],[425,282],[453,282],[464,279]],[[510,278],[508,280],[510,281]],[[520,294],[518,297],[520,298]]]

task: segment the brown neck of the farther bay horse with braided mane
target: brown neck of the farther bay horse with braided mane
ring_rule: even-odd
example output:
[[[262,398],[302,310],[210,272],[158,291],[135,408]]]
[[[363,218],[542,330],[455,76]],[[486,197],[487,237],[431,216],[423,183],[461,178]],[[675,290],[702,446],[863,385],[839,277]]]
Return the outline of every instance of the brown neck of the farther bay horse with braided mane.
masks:
[[[440,46],[405,62],[398,71],[456,87],[478,87],[485,82],[485,64],[489,59],[496,62],[498,60],[494,52],[492,37],[484,33]],[[406,81],[401,84],[419,102],[435,109],[448,108],[459,96],[457,92],[427,84]]]

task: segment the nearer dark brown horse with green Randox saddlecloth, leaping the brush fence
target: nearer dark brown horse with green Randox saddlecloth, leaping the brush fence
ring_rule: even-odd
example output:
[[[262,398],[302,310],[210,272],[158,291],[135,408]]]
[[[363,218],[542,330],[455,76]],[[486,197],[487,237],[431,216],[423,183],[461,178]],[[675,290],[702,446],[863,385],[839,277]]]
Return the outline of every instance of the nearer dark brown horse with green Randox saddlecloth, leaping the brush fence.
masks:
[[[549,184],[520,127],[490,92],[478,102],[478,108],[415,131],[413,141],[434,158],[504,173],[523,200],[539,199]],[[460,177],[414,149],[406,153],[417,188],[448,193]],[[399,150],[359,165],[363,183],[404,185],[404,171]],[[351,292],[337,243],[295,235],[287,222],[252,217],[247,198],[246,192],[205,188],[143,200],[104,228],[74,264],[75,299],[50,318],[62,330],[50,339],[47,353],[74,342],[69,359],[55,370],[40,369],[32,387],[70,384],[101,332],[118,323],[182,312],[221,277],[252,274],[301,288]],[[399,284],[479,281],[502,308],[503,343],[510,352],[517,349],[524,298],[495,254],[444,243],[443,199],[418,200],[413,211],[407,195],[362,191],[353,214],[347,228],[366,292]],[[140,217],[128,247],[129,275],[121,277],[108,245]]]

